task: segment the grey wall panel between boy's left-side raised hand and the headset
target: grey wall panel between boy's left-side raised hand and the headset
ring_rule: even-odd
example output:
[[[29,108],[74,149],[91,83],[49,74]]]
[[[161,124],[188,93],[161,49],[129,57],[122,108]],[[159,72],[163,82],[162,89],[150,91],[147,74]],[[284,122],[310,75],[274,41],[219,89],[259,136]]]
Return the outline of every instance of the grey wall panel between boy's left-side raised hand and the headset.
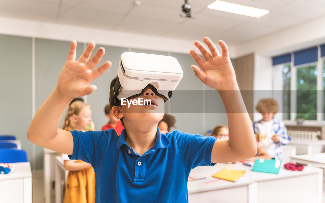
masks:
[[[110,82],[117,76],[121,54],[128,51],[128,48],[96,45],[96,49],[92,53],[92,56],[99,47],[105,49],[105,55],[96,67],[99,67],[105,61],[110,61],[112,66],[103,75],[92,82],[92,84],[97,86],[97,90],[87,95],[87,103],[91,106],[91,118],[95,123],[96,130],[101,130],[102,126],[108,122],[104,113],[104,108],[106,104],[109,103]]]

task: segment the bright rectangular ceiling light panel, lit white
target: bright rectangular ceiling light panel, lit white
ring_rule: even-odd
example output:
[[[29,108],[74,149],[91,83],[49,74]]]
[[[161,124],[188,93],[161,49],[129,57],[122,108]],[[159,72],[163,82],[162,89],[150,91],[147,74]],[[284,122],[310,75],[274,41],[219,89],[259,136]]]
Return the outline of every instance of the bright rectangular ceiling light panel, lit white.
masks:
[[[220,1],[220,0],[216,0],[215,2],[210,4],[208,8],[225,11],[229,13],[236,13],[244,16],[251,16],[255,18],[259,18],[270,12],[268,10],[261,9],[261,8],[254,8],[254,7],[234,4],[234,3]]]

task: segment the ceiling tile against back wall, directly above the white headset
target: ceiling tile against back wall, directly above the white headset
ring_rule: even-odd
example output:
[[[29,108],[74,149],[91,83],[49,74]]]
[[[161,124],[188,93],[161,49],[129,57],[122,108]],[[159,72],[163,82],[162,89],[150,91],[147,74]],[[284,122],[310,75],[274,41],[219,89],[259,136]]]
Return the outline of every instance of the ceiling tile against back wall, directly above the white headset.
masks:
[[[143,35],[161,36],[166,30],[177,26],[176,23],[162,22],[157,20],[141,19],[127,16],[114,30],[131,32]]]

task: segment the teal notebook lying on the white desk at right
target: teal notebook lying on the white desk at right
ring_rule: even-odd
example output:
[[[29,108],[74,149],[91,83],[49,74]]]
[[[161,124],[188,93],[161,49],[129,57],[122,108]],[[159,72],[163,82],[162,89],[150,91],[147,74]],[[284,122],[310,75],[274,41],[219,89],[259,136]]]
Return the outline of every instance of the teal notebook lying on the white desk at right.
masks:
[[[252,171],[279,174],[280,165],[279,159],[256,159]]]

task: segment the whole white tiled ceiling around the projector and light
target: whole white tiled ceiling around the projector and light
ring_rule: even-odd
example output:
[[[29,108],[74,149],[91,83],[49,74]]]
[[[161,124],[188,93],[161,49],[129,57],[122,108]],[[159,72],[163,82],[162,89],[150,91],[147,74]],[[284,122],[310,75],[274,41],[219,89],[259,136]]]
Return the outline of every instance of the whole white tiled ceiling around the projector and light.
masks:
[[[1,0],[0,16],[185,40],[209,36],[240,45],[325,15],[325,0],[227,0],[267,9],[260,18],[207,8],[188,0],[195,19],[180,18],[184,0]]]

